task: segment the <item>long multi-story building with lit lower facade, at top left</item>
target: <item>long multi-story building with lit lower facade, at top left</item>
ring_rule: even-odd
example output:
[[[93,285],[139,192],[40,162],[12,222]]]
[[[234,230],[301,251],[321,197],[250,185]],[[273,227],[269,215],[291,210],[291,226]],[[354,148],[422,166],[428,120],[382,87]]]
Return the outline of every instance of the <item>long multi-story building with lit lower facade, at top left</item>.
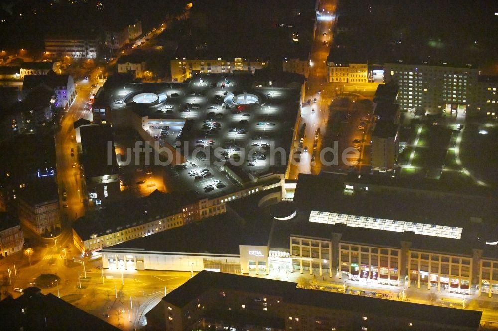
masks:
[[[45,38],[45,54],[52,58],[97,58],[97,39]]]

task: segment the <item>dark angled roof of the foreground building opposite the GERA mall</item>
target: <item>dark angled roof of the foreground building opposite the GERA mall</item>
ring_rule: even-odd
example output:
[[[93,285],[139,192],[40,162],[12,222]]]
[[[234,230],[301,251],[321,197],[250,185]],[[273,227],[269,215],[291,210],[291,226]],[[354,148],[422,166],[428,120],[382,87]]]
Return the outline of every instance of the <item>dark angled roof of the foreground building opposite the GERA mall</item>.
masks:
[[[285,281],[201,271],[162,300],[177,307],[184,307],[207,290],[225,289],[279,296],[282,297],[284,303],[289,304],[415,319],[453,326],[478,328],[481,320],[482,312],[480,311],[379,300],[366,296],[301,289],[296,286],[296,283]]]

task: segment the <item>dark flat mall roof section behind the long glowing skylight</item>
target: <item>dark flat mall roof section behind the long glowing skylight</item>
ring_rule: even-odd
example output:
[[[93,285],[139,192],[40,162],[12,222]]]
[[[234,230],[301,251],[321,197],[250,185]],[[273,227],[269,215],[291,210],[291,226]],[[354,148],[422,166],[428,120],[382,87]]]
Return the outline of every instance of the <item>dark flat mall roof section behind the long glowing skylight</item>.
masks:
[[[346,184],[368,186],[369,190],[344,194]],[[375,175],[300,174],[294,202],[304,211],[460,227],[469,225],[471,218],[493,224],[498,215],[497,204],[490,200],[494,195],[485,198],[492,191],[475,187],[482,195],[464,195],[465,192],[473,193],[472,189],[432,179],[413,181]]]

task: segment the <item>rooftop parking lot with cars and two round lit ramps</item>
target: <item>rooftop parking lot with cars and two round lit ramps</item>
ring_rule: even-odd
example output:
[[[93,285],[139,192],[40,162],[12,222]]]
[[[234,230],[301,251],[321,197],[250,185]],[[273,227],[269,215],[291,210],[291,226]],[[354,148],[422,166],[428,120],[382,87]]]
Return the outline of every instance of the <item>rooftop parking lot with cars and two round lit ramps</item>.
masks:
[[[254,175],[288,162],[300,91],[252,87],[250,78],[207,74],[185,83],[130,83],[109,91],[108,102],[113,112],[131,109],[147,118],[143,128],[161,147],[180,149],[185,167],[166,171],[177,189],[211,195],[237,185],[220,172],[225,162]],[[272,155],[270,146],[281,149]]]

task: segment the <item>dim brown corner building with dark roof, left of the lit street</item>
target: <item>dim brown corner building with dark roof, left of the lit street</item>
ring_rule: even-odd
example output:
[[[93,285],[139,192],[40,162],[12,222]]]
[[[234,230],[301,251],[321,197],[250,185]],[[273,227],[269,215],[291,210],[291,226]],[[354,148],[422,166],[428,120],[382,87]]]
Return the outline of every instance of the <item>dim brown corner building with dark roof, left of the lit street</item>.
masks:
[[[40,191],[24,190],[17,199],[17,212],[22,225],[34,233],[48,236],[61,230],[59,195],[56,186]]]

